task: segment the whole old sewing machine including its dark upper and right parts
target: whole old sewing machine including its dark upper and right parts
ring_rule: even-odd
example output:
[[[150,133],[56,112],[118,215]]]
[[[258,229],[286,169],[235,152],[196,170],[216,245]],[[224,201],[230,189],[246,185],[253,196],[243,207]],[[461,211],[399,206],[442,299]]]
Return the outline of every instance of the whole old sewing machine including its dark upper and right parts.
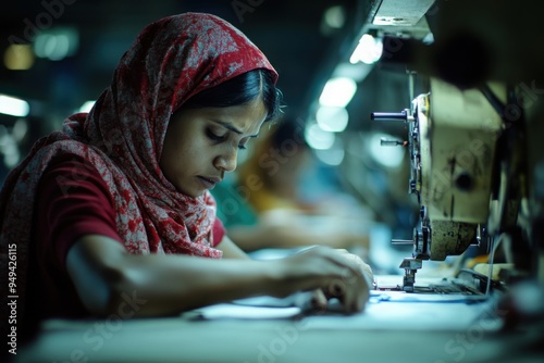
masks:
[[[434,42],[395,36],[383,41],[401,51],[385,50],[382,65],[400,64],[409,77],[429,80],[429,92],[413,97],[410,108],[371,114],[407,130],[405,140],[382,145],[407,149],[408,191],[421,208],[412,239],[393,240],[413,245],[399,266],[408,292],[424,260],[443,261],[472,245],[486,249],[491,265],[502,245],[510,266],[498,277],[503,281],[531,279],[544,287],[544,147],[537,136],[544,89],[535,66],[544,52],[532,46],[539,27],[527,20],[542,5],[523,2],[516,9],[524,16],[514,17],[507,7],[498,8],[486,12],[470,1],[437,1],[428,14],[434,16]],[[511,22],[515,34],[505,33]]]

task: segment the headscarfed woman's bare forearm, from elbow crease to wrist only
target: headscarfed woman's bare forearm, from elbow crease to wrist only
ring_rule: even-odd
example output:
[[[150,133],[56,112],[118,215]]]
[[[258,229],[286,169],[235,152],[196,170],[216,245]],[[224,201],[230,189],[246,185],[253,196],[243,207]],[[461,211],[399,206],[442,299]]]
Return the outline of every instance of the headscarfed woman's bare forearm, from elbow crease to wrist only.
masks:
[[[185,255],[128,255],[119,292],[147,300],[140,314],[160,315],[273,293],[279,279],[270,262]]]

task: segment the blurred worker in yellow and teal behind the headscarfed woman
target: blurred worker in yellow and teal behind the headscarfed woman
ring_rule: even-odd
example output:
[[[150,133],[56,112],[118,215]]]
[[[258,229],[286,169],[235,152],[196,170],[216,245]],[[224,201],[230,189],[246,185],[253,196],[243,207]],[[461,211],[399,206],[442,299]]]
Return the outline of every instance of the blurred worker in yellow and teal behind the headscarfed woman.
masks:
[[[234,179],[212,190],[235,243],[248,252],[323,245],[366,256],[372,217],[345,195],[312,190],[317,165],[304,125],[284,117],[262,134]]]

